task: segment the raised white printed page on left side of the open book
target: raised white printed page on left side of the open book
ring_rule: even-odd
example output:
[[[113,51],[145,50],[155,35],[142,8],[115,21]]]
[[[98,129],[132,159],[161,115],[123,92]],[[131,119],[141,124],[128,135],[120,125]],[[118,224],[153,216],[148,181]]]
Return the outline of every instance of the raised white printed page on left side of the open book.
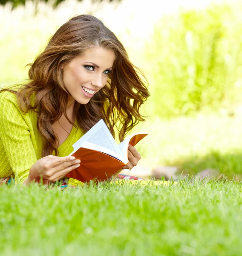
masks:
[[[84,134],[76,143],[72,145],[74,151],[80,148],[81,145],[86,141],[103,148],[107,148],[115,153],[121,153],[103,119],[97,122],[88,132],[86,132],[86,134]]]

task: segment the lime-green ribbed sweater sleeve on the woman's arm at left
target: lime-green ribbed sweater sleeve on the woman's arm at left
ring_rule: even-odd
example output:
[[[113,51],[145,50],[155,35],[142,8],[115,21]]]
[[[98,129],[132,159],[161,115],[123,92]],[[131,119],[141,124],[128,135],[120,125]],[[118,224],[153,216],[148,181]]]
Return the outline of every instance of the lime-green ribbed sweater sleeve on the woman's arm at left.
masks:
[[[37,157],[29,126],[17,106],[17,100],[12,100],[9,94],[13,93],[0,93],[0,138],[16,181],[23,183]]]

